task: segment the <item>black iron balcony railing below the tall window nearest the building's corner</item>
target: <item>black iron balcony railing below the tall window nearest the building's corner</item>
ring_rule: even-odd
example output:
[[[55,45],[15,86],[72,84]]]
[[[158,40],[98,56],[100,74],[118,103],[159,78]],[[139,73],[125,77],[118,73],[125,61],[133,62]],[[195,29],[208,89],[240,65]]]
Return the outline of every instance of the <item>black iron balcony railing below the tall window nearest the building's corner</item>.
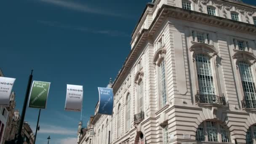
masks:
[[[210,94],[196,94],[195,101],[198,104],[219,104],[227,106],[227,102],[224,96],[216,96]]]

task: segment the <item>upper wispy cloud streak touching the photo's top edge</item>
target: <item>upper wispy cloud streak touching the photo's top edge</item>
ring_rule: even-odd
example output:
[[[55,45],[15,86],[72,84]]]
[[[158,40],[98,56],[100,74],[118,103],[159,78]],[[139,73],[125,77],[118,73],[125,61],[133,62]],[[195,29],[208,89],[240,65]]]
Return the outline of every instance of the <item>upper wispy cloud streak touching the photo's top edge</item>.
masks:
[[[92,8],[89,5],[85,5],[82,3],[74,3],[71,1],[66,1],[66,0],[39,0],[43,3],[49,3],[52,5],[60,6],[63,8],[68,8],[70,10],[74,11],[80,11],[80,12],[85,12],[85,13],[95,13],[95,14],[101,14],[101,15],[107,15],[107,16],[116,16],[116,17],[122,17],[121,14],[118,13],[113,13],[110,11],[105,11],[102,8]]]

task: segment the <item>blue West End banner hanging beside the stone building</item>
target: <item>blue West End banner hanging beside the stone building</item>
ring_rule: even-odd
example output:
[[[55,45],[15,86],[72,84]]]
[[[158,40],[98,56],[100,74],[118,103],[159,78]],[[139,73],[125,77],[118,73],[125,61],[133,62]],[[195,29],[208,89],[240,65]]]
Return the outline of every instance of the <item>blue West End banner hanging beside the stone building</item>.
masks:
[[[99,89],[99,114],[112,115],[114,95],[112,88]]]

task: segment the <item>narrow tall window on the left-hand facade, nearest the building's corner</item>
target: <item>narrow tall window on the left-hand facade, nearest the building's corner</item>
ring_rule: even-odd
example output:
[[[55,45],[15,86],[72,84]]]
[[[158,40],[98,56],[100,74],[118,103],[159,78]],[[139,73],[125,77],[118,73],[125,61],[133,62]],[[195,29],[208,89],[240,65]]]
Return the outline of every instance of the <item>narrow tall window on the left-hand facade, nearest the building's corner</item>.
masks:
[[[165,60],[162,60],[159,65],[159,82],[160,82],[161,107],[164,107],[167,102],[166,80],[165,80]]]

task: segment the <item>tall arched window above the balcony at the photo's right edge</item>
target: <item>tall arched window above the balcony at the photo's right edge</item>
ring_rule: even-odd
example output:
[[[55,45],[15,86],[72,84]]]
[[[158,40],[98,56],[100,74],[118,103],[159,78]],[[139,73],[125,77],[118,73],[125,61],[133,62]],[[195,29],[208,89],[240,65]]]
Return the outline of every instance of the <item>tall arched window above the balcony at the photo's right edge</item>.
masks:
[[[256,88],[251,67],[245,61],[238,64],[247,108],[256,108]]]

